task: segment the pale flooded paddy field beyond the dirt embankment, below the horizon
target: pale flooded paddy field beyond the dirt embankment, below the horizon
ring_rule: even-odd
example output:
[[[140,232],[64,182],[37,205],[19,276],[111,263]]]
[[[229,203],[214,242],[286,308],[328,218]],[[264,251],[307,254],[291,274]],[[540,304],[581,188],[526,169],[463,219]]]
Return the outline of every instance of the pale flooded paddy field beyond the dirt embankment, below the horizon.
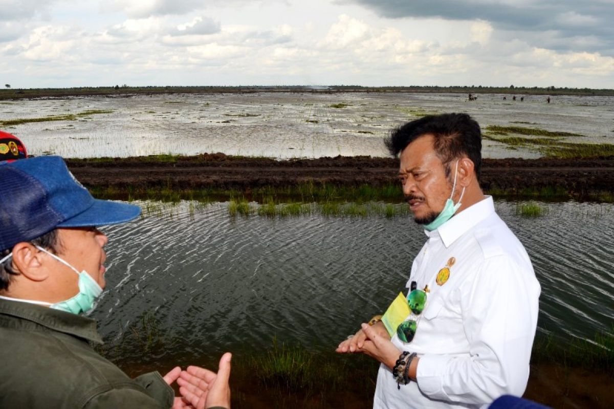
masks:
[[[228,155],[273,158],[386,156],[394,126],[429,113],[467,112],[487,126],[521,126],[585,137],[567,142],[612,143],[614,97],[500,94],[254,93],[73,97],[4,102],[0,129],[20,137],[34,155],[67,158]],[[87,112],[106,111],[99,113]],[[110,112],[109,112],[110,111]],[[2,126],[3,121],[53,117]],[[61,118],[66,117],[66,120]],[[10,122],[9,122],[10,123]],[[537,150],[484,140],[486,158],[540,156]]]

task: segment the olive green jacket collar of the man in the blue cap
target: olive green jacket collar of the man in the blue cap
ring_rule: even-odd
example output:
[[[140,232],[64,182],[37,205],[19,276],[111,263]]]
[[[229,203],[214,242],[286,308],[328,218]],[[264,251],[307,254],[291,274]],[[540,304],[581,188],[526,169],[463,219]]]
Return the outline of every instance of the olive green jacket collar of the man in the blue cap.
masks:
[[[32,321],[53,331],[75,335],[98,344],[103,343],[96,330],[96,320],[84,316],[54,310],[42,305],[7,299],[0,299],[0,315],[14,316]]]

